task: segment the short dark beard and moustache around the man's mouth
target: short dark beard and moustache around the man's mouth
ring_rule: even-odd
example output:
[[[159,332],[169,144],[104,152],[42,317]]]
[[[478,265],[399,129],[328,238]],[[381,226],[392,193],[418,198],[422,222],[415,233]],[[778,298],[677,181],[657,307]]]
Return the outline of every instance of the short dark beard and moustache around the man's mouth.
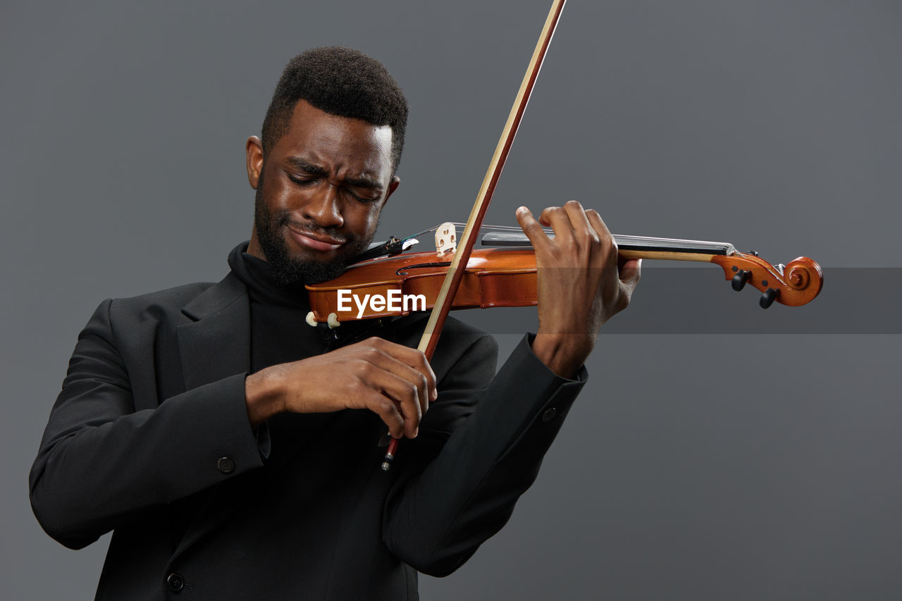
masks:
[[[266,262],[270,264],[272,274],[282,286],[335,280],[345,272],[349,264],[352,264],[354,257],[363,253],[373,241],[374,232],[364,237],[338,234],[333,228],[316,227],[292,219],[289,211],[272,213],[263,201],[261,190],[262,174],[261,185],[257,187],[254,197],[253,225],[257,230],[257,240],[263,254],[266,255]],[[296,232],[309,232],[342,240],[345,243],[342,253],[328,263],[293,257],[288,245],[285,244],[285,237],[281,234],[285,227],[290,227]]]

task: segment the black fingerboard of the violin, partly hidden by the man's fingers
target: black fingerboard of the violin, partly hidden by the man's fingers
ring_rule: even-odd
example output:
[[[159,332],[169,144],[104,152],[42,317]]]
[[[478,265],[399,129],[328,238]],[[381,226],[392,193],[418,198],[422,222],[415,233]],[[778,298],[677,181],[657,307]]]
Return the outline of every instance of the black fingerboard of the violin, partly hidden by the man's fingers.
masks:
[[[548,234],[548,237],[554,237],[554,234]],[[709,262],[713,256],[731,256],[736,253],[733,245],[725,242],[621,235],[613,235],[613,238],[621,256],[626,259]],[[532,246],[525,234],[516,231],[490,232],[483,236],[482,244],[484,246]]]

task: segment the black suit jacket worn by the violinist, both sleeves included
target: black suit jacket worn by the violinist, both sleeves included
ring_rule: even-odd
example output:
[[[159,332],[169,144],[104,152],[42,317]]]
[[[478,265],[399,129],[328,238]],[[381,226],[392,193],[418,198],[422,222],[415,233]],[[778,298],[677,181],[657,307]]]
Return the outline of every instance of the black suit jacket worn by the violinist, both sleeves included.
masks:
[[[407,322],[384,336],[416,346]],[[231,273],[105,301],[79,335],[30,485],[62,544],[114,531],[98,599],[416,599],[416,570],[452,572],[507,522],[582,386],[526,339],[495,376],[492,337],[449,319],[437,402],[386,474],[369,411],[252,430],[250,341]]]

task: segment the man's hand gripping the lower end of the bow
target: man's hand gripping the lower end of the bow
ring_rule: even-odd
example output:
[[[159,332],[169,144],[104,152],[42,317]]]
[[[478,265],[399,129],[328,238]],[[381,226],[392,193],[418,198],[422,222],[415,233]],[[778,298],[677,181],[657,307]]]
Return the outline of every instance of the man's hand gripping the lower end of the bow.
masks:
[[[420,419],[438,396],[425,355],[376,337],[262,369],[247,376],[244,393],[252,428],[282,411],[369,409],[396,439],[417,436]]]

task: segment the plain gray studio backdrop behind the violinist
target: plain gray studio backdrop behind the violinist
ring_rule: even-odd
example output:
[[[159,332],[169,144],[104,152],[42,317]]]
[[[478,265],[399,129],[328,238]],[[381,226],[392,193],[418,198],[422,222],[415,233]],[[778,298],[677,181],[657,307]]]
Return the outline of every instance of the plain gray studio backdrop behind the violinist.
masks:
[[[244,139],[284,62],[344,43],[399,79],[381,233],[406,234],[465,220],[547,11],[4,0],[0,597],[93,596],[106,537],[65,550],[28,506],[47,414],[99,301],[226,273],[252,219]],[[581,199],[623,234],[809,255],[824,293],[764,312],[717,268],[661,286],[647,263],[537,484],[424,598],[902,596],[900,62],[893,2],[571,2],[488,222]],[[529,327],[485,315],[505,352]]]

